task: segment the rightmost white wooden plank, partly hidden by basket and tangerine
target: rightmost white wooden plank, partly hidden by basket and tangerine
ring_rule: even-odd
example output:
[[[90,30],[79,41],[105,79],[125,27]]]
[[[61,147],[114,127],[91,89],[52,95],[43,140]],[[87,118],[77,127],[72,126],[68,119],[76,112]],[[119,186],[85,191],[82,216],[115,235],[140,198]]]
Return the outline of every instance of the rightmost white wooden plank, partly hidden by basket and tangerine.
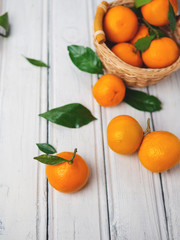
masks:
[[[153,113],[155,130],[166,130],[180,138],[179,103],[180,71],[172,74],[162,82],[150,88],[163,103],[163,110]],[[169,239],[178,240],[180,236],[180,165],[162,173],[162,186],[167,215]]]

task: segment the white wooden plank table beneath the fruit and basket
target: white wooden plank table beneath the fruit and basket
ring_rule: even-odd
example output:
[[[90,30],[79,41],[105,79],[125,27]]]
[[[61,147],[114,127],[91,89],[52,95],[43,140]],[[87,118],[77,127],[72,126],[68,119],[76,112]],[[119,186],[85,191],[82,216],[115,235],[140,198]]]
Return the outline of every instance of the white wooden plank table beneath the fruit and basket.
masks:
[[[99,0],[2,0],[9,38],[0,39],[0,240],[179,240],[180,167],[153,174],[137,153],[122,156],[106,141],[108,122],[120,114],[145,129],[168,130],[180,138],[180,71],[145,88],[163,110],[140,112],[125,103],[100,108],[92,97],[96,75],[71,63],[67,46],[90,46]],[[49,63],[49,71],[22,55]],[[38,117],[47,108],[79,102],[98,121],[68,129]],[[73,151],[87,161],[90,178],[75,194],[47,184],[45,166],[33,160],[37,142],[58,152]]]

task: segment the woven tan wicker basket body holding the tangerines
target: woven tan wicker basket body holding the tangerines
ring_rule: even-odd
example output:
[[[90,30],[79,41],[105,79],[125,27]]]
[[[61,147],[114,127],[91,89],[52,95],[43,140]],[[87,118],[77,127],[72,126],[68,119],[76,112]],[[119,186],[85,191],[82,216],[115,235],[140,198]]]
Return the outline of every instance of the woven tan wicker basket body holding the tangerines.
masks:
[[[117,0],[109,3],[108,8],[118,5],[132,7],[134,5],[134,1]],[[156,84],[180,67],[180,57],[175,63],[166,68],[152,69],[134,67],[118,58],[105,43],[98,43],[95,34],[94,45],[106,72],[121,77],[129,87],[146,87]]]

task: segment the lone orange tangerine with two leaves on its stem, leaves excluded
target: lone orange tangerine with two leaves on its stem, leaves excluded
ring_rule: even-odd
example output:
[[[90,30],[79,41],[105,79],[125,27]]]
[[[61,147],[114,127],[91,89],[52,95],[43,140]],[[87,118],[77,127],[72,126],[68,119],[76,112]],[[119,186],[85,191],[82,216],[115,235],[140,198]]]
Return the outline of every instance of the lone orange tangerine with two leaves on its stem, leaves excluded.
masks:
[[[71,160],[72,152],[62,152],[56,156]],[[46,175],[49,183],[56,190],[72,193],[80,190],[87,182],[89,168],[82,157],[76,154],[73,164],[64,162],[58,165],[47,165]]]

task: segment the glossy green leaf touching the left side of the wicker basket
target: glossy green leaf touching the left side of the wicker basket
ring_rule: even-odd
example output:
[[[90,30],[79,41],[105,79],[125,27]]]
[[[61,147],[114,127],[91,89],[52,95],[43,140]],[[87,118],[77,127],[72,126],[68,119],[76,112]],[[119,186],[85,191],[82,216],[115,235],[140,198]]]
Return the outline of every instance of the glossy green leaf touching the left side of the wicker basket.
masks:
[[[83,72],[103,74],[103,65],[96,53],[89,47],[68,46],[69,56],[74,65]]]

